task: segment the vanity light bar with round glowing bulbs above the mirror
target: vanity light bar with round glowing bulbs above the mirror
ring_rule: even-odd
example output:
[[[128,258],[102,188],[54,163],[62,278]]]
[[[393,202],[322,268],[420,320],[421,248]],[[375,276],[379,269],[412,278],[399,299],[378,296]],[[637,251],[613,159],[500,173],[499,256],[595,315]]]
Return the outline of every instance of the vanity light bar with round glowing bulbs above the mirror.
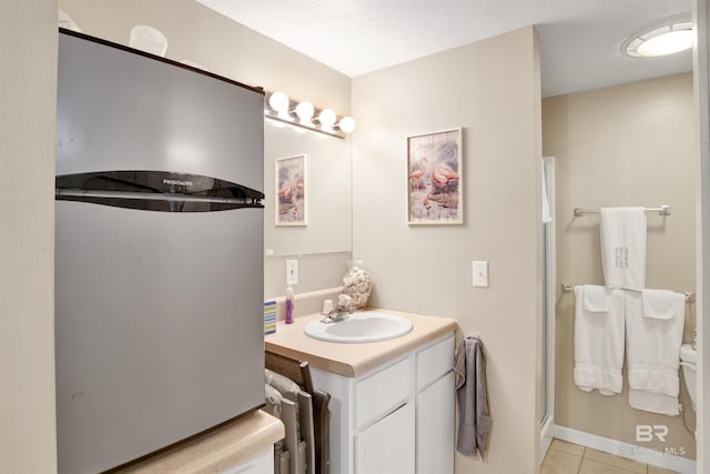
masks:
[[[342,117],[338,120],[333,109],[320,110],[308,101],[295,102],[281,91],[266,93],[264,115],[280,123],[341,139],[355,130],[355,119],[352,117]]]

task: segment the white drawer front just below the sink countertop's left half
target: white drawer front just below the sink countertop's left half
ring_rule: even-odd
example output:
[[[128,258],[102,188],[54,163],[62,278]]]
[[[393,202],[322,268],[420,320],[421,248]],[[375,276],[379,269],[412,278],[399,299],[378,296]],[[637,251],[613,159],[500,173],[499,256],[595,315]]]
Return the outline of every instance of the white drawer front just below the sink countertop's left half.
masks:
[[[407,357],[355,385],[355,427],[364,426],[409,399],[412,359]]]

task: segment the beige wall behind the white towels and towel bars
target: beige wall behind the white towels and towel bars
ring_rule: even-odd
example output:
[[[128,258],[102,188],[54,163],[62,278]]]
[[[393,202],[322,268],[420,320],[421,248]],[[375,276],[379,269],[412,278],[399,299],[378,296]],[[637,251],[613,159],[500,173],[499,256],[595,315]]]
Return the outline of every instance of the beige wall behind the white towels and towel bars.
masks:
[[[604,284],[599,216],[574,208],[670,204],[666,219],[648,215],[648,288],[696,291],[696,157],[692,74],[556,97],[542,101],[544,154],[556,158],[557,281]],[[694,440],[680,417],[632,410],[619,396],[572,384],[574,296],[557,300],[558,425],[636,443],[637,424],[666,424],[668,442],[694,458]],[[686,340],[694,327],[688,305]],[[694,420],[684,384],[681,402]]]

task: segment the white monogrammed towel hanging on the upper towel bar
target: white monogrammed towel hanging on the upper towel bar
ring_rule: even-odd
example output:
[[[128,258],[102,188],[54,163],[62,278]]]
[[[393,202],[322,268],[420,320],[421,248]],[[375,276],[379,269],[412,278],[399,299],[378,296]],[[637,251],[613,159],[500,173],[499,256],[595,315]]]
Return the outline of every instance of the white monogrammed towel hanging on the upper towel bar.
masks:
[[[601,208],[601,266],[606,286],[646,286],[646,210]]]

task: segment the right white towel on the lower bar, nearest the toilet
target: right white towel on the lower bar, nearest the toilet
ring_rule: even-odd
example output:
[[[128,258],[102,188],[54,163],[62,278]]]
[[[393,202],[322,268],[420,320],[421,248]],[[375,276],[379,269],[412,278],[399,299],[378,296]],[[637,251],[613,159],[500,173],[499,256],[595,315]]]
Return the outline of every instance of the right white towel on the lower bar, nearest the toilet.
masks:
[[[659,319],[643,313],[643,300],[672,306],[672,316]],[[665,300],[663,304],[660,302]],[[686,295],[670,291],[626,292],[629,405],[647,412],[678,415],[678,352],[686,323]]]

